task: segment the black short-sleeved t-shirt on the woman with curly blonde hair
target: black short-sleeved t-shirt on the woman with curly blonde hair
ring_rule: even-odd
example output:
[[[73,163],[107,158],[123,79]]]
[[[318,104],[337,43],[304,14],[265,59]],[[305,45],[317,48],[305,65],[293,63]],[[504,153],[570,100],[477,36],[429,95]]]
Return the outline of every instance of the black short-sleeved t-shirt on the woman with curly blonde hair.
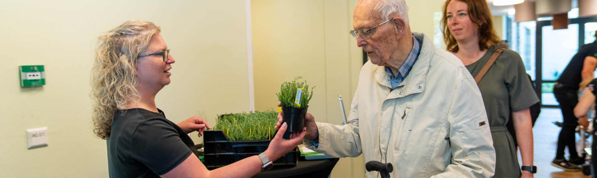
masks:
[[[198,155],[189,135],[158,111],[116,113],[107,139],[110,177],[159,177],[189,155]]]

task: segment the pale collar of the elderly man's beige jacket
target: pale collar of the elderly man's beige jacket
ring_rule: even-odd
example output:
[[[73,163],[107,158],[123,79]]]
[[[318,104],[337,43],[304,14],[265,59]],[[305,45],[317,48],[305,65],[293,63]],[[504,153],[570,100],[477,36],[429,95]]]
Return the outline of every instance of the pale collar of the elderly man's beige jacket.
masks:
[[[433,55],[433,44],[431,39],[423,33],[413,33],[414,38],[421,41],[421,52],[418,55],[417,61],[413,65],[408,76],[400,83],[398,88],[401,88],[407,96],[413,93],[420,93],[425,90],[425,80],[427,77],[427,71],[429,71],[429,63]],[[380,85],[386,86],[392,89],[392,84],[389,82],[389,76],[387,76],[384,66],[377,66],[373,70],[373,78]]]

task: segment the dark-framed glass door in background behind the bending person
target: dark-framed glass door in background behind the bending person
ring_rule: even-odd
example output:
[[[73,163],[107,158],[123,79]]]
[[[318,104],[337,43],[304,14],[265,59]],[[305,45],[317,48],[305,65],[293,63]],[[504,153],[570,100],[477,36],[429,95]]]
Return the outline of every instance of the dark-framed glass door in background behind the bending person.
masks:
[[[541,93],[541,105],[558,107],[553,85],[578,48],[595,41],[597,17],[573,18],[568,29],[553,30],[551,21],[537,21],[536,92]],[[597,76],[597,75],[596,75]]]

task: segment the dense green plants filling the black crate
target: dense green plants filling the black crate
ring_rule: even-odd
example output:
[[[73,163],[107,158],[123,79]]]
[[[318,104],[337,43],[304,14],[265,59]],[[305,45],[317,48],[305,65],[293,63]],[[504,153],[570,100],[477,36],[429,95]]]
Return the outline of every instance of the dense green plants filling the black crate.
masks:
[[[222,130],[226,138],[234,140],[272,139],[278,123],[278,112],[251,111],[249,113],[224,114],[217,118],[214,130]]]

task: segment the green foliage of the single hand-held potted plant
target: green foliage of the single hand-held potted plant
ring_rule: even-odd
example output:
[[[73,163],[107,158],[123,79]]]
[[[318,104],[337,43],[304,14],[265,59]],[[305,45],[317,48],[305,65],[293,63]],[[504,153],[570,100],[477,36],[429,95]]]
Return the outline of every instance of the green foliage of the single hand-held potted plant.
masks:
[[[297,82],[297,79],[301,77],[294,78],[293,82],[284,82],[282,86],[280,86],[280,92],[276,93],[278,95],[278,101],[282,103],[282,105],[286,107],[293,107],[293,108],[304,108],[307,107],[309,101],[313,97],[313,86],[309,89],[309,85],[307,85],[307,81],[304,82]],[[300,100],[300,107],[294,103],[294,99],[296,99],[297,89],[303,89],[303,95],[301,96]]]

